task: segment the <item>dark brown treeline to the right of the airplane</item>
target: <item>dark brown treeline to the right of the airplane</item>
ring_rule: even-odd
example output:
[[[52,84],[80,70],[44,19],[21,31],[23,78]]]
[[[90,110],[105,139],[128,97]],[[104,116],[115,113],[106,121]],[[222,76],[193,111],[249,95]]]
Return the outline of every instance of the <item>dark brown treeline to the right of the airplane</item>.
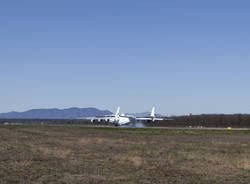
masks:
[[[159,121],[152,126],[171,127],[235,127],[250,128],[249,114],[202,114],[172,117],[173,120]]]

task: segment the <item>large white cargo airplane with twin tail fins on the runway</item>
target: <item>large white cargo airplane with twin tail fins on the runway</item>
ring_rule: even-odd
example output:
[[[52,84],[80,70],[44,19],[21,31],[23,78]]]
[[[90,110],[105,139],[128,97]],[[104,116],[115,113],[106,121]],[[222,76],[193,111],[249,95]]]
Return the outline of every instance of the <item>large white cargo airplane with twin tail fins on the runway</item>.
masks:
[[[114,115],[107,115],[107,116],[97,116],[91,119],[91,122],[108,122],[113,123],[116,126],[125,125],[128,123],[139,121],[147,121],[147,122],[154,122],[154,121],[162,121],[163,118],[155,117],[155,108],[152,108],[152,112],[150,117],[135,117],[132,115],[119,115],[120,107],[117,108],[117,111]]]

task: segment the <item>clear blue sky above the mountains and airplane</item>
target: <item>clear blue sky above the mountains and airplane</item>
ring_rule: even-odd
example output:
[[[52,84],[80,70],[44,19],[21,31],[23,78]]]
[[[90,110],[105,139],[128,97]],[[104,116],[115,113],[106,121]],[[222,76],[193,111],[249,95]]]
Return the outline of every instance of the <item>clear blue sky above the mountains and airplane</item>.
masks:
[[[0,112],[250,113],[248,0],[1,0]]]

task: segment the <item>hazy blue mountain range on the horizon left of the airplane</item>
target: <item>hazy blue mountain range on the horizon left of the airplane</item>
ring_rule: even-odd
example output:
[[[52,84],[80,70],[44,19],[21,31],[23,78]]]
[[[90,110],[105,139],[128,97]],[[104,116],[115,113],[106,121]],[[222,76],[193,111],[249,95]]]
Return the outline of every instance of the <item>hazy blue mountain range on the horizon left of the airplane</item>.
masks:
[[[108,110],[97,108],[68,108],[68,109],[31,109],[25,112],[0,113],[0,118],[6,119],[80,119],[93,116],[113,114]]]

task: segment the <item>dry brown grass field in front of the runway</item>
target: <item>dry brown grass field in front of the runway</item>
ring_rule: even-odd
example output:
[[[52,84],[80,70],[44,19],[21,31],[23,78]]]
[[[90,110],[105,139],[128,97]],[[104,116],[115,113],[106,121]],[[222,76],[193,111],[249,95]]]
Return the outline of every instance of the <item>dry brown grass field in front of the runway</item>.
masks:
[[[0,183],[250,183],[250,132],[0,126]]]

